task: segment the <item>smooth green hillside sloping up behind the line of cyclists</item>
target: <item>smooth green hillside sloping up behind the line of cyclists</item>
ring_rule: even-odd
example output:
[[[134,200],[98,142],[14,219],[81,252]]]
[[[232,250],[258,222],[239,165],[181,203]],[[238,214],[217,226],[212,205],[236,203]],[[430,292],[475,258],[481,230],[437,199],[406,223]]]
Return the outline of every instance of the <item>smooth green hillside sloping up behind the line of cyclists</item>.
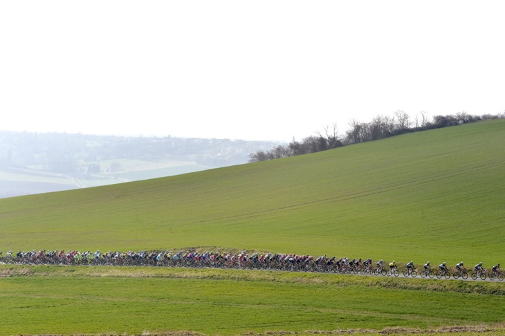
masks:
[[[488,265],[505,256],[504,144],[505,120],[493,120],[2,199],[0,249],[210,246]]]

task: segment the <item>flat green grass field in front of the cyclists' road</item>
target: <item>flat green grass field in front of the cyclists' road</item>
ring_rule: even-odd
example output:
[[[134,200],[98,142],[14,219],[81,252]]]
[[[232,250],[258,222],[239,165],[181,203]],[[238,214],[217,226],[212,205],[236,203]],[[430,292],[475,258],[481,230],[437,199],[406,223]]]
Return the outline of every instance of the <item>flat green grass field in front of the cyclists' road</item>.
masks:
[[[0,335],[204,334],[481,326],[505,286],[335,274],[0,267]]]

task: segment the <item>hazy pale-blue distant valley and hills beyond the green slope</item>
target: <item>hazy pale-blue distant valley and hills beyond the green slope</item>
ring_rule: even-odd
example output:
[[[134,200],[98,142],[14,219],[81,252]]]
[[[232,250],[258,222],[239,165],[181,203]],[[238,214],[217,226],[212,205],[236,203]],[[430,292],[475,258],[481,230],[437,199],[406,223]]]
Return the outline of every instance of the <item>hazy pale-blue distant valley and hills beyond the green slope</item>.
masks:
[[[279,142],[0,131],[0,198],[240,165]]]

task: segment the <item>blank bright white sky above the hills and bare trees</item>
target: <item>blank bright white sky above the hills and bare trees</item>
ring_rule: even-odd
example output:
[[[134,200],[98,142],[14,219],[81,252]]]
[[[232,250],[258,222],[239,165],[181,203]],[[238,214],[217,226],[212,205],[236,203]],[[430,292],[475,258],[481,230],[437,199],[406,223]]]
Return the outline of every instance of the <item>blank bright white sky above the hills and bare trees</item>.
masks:
[[[505,1],[0,1],[0,129],[291,141],[505,111]]]

